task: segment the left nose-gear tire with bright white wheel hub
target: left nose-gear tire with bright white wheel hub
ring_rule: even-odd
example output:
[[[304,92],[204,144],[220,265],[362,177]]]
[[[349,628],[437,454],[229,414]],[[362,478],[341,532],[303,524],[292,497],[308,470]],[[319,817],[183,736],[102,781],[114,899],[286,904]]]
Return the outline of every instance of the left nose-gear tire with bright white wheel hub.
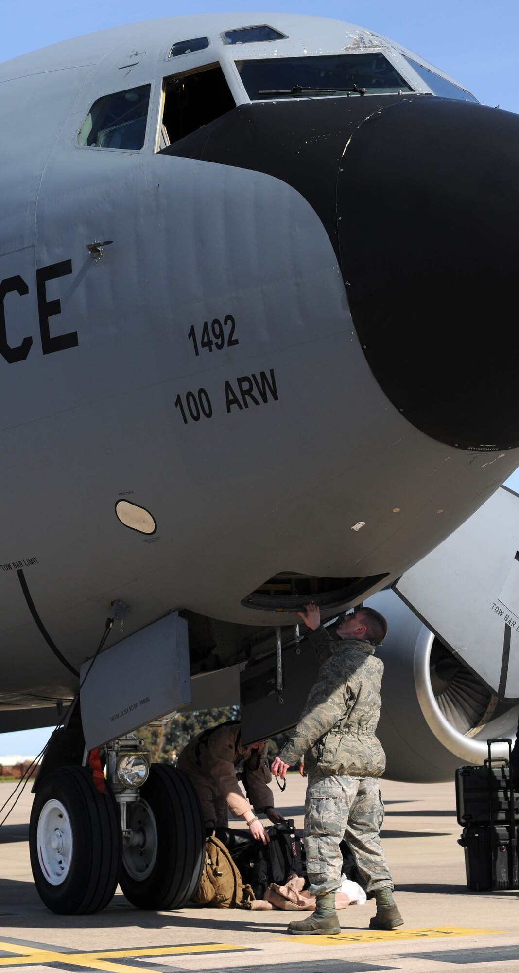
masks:
[[[112,793],[86,767],[62,767],[42,782],[29,824],[32,874],[44,905],[61,916],[104,909],[118,883],[121,824]]]

